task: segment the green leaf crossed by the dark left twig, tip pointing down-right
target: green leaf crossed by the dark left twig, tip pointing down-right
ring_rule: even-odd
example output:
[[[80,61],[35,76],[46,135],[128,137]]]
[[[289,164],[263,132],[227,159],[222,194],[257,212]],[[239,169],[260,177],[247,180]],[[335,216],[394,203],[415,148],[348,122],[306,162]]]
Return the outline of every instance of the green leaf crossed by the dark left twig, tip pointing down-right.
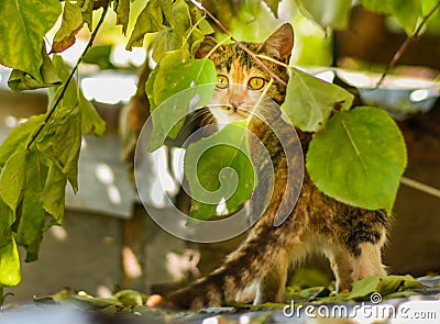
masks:
[[[53,63],[59,77],[65,82],[70,71],[64,64],[63,58],[54,55]],[[48,89],[50,102],[54,102],[56,100],[56,98],[59,96],[59,89],[61,87]],[[82,134],[95,134],[97,136],[101,136],[106,132],[106,122],[100,118],[95,107],[84,97],[82,91],[78,89],[78,86],[74,80],[67,87],[67,91],[62,100],[61,107],[79,107],[81,112]]]

